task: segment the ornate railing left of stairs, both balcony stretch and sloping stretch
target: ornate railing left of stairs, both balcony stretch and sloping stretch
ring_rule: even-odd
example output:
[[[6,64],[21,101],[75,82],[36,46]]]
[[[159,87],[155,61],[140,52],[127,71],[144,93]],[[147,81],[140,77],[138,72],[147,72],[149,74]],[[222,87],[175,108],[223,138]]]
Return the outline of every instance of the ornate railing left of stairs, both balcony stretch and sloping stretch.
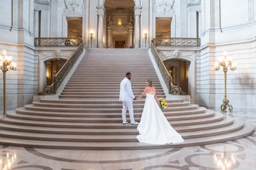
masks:
[[[51,40],[52,39],[52,40]],[[47,43],[48,42],[48,43]],[[63,43],[67,45],[63,45]],[[71,44],[72,43],[72,44]],[[58,73],[52,78],[52,84],[46,86],[38,95],[53,95],[56,94],[61,82],[65,79],[72,66],[83,53],[83,40],[81,38],[35,38],[35,47],[60,47],[74,46],[77,49],[73,52],[68,61],[61,67]]]

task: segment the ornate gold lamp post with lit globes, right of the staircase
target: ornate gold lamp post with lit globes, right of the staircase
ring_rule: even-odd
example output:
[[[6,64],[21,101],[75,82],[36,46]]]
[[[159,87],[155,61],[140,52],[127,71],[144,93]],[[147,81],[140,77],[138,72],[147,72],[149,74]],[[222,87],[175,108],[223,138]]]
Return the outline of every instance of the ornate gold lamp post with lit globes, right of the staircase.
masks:
[[[233,112],[233,107],[232,105],[228,104],[229,100],[227,98],[227,72],[228,72],[228,67],[230,68],[231,71],[236,70],[236,62],[232,61],[232,58],[230,56],[227,56],[226,50],[224,50],[224,56],[218,59],[218,61],[215,63],[214,67],[215,70],[218,71],[220,70],[221,66],[223,67],[223,72],[224,72],[224,98],[222,100],[223,104],[220,107],[221,112],[227,112],[227,108],[229,112]]]

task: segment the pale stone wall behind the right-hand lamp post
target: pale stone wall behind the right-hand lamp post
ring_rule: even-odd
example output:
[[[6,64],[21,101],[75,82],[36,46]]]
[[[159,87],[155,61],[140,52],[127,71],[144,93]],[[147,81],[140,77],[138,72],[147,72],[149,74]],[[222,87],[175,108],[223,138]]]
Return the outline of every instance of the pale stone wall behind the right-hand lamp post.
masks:
[[[237,70],[227,73],[227,93],[235,111],[256,111],[256,1],[202,1],[201,54],[196,59],[196,103],[220,111],[223,71],[214,63],[227,50]],[[249,10],[248,10],[249,9]]]

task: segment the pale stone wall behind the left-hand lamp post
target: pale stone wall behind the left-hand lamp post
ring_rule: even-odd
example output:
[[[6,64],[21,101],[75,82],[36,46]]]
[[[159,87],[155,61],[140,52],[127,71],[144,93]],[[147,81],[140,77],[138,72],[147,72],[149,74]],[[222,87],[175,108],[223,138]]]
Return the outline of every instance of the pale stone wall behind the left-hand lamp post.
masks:
[[[17,63],[17,71],[9,70],[6,73],[6,105],[9,110],[31,103],[37,92],[38,65],[33,47],[34,1],[3,0],[0,7],[0,50],[6,49],[7,54],[13,56],[13,61]],[[0,98],[3,98],[2,72],[0,84]]]

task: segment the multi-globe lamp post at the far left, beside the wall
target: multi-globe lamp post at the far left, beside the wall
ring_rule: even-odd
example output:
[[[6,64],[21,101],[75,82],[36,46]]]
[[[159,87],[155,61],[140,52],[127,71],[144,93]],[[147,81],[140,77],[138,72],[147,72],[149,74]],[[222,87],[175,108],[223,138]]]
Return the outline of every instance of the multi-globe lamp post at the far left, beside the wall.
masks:
[[[3,55],[0,55],[0,68],[3,71],[3,98],[4,98],[4,117],[6,116],[6,72],[11,70],[16,70],[17,64],[12,61],[12,56],[6,55],[6,50],[3,50]]]

